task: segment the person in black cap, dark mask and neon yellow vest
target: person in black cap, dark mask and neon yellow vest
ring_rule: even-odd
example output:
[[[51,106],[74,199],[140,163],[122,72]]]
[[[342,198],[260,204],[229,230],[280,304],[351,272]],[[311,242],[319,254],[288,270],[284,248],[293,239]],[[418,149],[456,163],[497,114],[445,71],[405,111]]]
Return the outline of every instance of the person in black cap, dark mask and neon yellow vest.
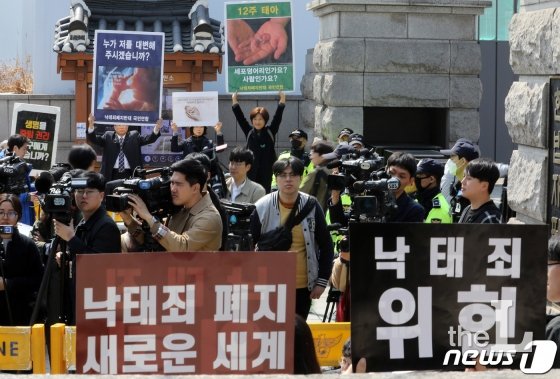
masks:
[[[426,223],[451,224],[452,217],[449,203],[441,193],[440,182],[443,176],[443,165],[431,158],[418,162],[414,182],[416,199],[426,211]]]

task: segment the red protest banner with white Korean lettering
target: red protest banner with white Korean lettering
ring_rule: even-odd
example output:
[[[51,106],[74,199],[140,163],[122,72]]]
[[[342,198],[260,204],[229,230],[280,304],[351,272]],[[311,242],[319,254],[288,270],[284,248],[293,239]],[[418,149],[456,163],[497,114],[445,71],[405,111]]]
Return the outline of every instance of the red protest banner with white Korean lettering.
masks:
[[[293,371],[294,254],[78,255],[76,279],[79,373]]]

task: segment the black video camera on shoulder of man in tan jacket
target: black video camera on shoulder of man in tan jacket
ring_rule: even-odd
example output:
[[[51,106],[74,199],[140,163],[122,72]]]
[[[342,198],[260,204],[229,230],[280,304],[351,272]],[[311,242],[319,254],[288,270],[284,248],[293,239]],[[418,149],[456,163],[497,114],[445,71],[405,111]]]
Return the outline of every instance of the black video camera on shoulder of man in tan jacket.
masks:
[[[147,178],[151,174],[159,176]],[[174,208],[171,200],[171,169],[169,167],[152,170],[137,169],[135,177],[107,182],[105,185],[105,206],[108,211],[122,212],[128,208],[128,195],[133,193],[146,203],[151,214],[166,217]]]

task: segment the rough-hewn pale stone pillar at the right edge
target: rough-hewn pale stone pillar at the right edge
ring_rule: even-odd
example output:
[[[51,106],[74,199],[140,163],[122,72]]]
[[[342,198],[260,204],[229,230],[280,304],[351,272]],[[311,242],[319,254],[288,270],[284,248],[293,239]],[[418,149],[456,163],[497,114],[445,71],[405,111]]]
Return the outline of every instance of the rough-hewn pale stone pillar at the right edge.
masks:
[[[508,203],[524,223],[546,220],[549,81],[560,73],[558,1],[521,0],[509,25],[510,64],[519,75],[506,97],[505,117],[518,149],[511,156]]]

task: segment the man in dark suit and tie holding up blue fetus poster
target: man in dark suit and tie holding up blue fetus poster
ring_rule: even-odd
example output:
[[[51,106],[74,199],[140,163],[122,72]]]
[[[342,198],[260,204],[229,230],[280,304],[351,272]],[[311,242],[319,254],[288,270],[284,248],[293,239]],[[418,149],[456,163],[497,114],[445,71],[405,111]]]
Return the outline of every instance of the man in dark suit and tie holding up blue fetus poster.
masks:
[[[107,131],[101,137],[94,133],[95,118],[88,118],[87,140],[103,148],[101,174],[106,181],[129,178],[134,169],[142,167],[140,148],[154,143],[160,136],[162,120],[159,119],[150,135],[140,135],[137,131],[128,131],[128,125],[115,124],[115,131]]]

